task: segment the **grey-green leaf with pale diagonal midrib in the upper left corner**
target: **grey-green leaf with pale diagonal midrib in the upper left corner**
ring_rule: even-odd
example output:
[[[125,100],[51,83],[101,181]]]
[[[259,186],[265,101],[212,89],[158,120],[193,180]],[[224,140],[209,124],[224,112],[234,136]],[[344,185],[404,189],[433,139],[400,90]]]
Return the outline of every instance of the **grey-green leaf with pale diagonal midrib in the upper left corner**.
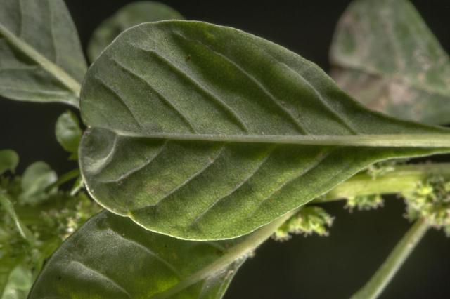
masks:
[[[2,0],[0,95],[78,107],[86,60],[62,0]]]

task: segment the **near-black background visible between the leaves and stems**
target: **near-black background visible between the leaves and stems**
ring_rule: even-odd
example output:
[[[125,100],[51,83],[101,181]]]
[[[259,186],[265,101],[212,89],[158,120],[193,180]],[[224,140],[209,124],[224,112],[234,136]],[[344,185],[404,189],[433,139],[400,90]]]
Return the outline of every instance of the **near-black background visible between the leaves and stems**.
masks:
[[[66,0],[84,48],[101,20],[131,1]],[[162,1],[189,20],[237,27],[271,41],[328,69],[328,48],[343,0]],[[442,46],[450,49],[450,1],[413,1]],[[19,173],[32,161],[47,161],[58,173],[77,167],[67,161],[53,136],[67,107],[0,100],[0,149],[21,157]],[[394,197],[376,211],[348,213],[341,202],[326,204],[335,216],[329,237],[269,241],[248,260],[225,298],[349,298],[383,262],[406,232],[404,204]],[[382,298],[450,298],[450,239],[431,230]]]

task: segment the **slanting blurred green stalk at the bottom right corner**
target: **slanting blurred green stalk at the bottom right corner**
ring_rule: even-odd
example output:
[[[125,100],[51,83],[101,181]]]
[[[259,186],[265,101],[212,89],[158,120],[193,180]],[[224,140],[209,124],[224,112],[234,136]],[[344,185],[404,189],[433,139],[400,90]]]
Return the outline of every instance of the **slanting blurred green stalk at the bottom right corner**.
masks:
[[[419,219],[409,229],[403,238],[399,241],[394,250],[385,260],[385,263],[375,272],[363,288],[356,292],[352,299],[372,299],[378,298],[392,277],[397,273],[401,265],[411,254],[416,245],[428,230],[428,222],[425,219]]]

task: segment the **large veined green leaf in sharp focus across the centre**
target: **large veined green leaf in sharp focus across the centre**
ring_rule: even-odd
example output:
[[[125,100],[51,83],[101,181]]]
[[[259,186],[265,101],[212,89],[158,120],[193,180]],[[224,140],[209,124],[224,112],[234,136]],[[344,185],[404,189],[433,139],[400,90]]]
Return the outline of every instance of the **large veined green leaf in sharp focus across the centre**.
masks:
[[[204,22],[122,33],[81,108],[90,194],[181,239],[248,234],[375,161],[450,146],[448,130],[371,112],[299,55]]]

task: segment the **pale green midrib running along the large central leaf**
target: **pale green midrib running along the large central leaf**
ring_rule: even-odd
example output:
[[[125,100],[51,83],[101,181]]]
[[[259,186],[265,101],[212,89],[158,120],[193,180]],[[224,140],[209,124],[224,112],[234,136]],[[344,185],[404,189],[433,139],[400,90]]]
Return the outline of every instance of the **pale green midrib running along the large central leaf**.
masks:
[[[103,128],[105,129],[105,128]],[[450,147],[449,133],[432,134],[359,134],[359,135],[256,135],[256,134],[192,134],[143,133],[110,130],[131,138],[179,141],[269,143],[284,145],[361,146],[361,147]],[[442,130],[444,131],[444,129]]]

